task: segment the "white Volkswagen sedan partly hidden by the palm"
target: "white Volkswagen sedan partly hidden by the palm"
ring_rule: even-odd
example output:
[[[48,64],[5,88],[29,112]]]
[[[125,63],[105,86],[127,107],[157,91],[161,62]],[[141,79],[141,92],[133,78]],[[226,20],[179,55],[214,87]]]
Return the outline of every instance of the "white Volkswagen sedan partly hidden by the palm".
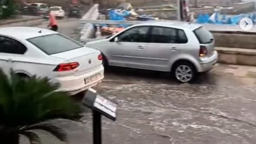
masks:
[[[102,55],[58,32],[34,27],[0,28],[0,67],[20,77],[48,77],[70,95],[104,77]]]

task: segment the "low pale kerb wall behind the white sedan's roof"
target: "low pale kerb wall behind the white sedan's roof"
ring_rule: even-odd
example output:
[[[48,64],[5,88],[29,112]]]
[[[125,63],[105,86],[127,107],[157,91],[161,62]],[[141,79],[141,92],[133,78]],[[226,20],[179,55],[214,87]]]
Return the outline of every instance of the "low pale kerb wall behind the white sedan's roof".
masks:
[[[41,25],[44,19],[41,17],[30,17],[20,18],[16,20],[3,20],[0,23],[0,27],[18,27],[18,26],[37,26]]]

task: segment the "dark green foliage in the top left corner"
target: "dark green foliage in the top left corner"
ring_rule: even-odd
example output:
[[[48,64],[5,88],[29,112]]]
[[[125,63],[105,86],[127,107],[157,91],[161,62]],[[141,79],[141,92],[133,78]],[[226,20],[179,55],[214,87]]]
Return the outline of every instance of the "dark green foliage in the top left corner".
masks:
[[[0,4],[0,18],[3,19],[15,15],[15,10],[16,4],[14,0],[4,0],[4,3]]]

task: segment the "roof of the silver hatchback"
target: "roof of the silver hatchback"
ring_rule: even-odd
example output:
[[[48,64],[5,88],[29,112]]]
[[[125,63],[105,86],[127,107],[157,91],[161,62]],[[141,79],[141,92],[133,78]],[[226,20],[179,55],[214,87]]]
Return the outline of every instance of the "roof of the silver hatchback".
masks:
[[[134,26],[162,26],[162,27],[171,27],[176,29],[183,29],[183,30],[195,30],[202,25],[196,23],[189,23],[189,22],[180,22],[180,21],[172,21],[172,22],[164,22],[164,21],[150,21],[144,22]]]

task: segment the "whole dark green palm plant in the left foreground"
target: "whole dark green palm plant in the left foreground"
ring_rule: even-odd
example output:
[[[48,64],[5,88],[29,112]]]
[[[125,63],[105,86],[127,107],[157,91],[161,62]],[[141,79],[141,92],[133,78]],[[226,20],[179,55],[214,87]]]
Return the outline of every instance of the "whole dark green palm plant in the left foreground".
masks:
[[[23,135],[30,143],[40,143],[31,130],[45,130],[61,141],[66,133],[48,121],[56,118],[74,119],[80,108],[47,78],[20,78],[14,73],[8,78],[0,70],[0,143],[18,144]]]

